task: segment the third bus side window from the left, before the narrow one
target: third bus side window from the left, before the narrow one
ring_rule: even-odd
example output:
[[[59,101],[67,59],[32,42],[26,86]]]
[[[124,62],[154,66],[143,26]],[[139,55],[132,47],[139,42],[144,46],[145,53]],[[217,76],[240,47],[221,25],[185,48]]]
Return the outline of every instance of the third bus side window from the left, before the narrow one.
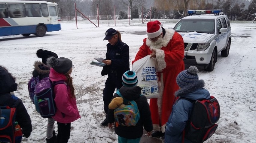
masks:
[[[42,16],[40,4],[26,4],[26,13],[28,17]]]

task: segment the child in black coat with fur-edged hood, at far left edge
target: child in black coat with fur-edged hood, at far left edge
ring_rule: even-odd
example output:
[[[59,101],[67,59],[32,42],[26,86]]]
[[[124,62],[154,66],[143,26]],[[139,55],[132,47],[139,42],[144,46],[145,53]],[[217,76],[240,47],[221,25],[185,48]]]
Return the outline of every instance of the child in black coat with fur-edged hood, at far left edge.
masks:
[[[23,136],[28,138],[32,132],[32,124],[30,116],[21,99],[11,94],[11,92],[16,90],[17,83],[15,83],[15,78],[5,67],[0,66],[0,106],[16,108],[15,121],[20,125]]]

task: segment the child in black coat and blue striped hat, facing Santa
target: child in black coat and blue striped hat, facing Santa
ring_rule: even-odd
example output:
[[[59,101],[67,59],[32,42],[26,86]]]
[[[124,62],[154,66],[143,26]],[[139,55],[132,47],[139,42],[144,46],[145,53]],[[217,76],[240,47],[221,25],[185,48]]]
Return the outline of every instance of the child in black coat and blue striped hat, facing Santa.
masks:
[[[135,72],[126,71],[122,76],[123,86],[119,89],[119,92],[124,99],[129,101],[134,100],[138,105],[140,119],[135,126],[122,126],[115,124],[115,132],[118,135],[118,143],[139,143],[143,134],[143,126],[147,131],[148,136],[151,136],[151,131],[153,130],[151,113],[149,110],[149,104],[145,96],[141,96],[141,87],[136,86],[138,84],[138,78]],[[114,118],[114,108],[120,106],[113,102],[120,101],[120,98],[117,93],[114,94],[111,103],[109,104],[108,109],[108,127],[112,127],[112,123],[116,122]]]

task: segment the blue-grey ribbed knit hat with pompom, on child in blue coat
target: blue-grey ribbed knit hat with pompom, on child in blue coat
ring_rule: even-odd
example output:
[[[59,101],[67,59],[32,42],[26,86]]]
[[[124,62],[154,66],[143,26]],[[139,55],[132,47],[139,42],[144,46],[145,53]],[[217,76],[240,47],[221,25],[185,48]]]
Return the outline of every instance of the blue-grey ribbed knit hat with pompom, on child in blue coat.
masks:
[[[190,66],[187,70],[180,72],[176,78],[179,87],[183,88],[198,81],[198,69],[196,66]]]

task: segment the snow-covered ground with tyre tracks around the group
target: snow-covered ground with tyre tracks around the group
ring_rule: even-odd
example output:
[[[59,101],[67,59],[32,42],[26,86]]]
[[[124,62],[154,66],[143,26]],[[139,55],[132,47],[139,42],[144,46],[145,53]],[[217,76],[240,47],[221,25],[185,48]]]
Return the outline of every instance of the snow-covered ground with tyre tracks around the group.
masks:
[[[178,20],[160,19],[164,28],[173,27]],[[103,40],[108,28],[119,30],[122,41],[130,47],[130,65],[142,40],[146,36],[146,23],[139,19],[100,21],[99,27],[89,21],[61,21],[62,30],[47,32],[44,37],[21,35],[0,37],[0,65],[5,66],[17,78],[15,95],[23,100],[32,120],[33,131],[25,143],[46,142],[47,119],[41,118],[29,99],[27,84],[32,76],[38,49],[50,50],[73,61],[73,82],[81,119],[71,124],[70,143],[117,143],[114,129],[102,127],[105,118],[102,90],[106,76],[102,67],[91,65],[93,58],[105,58]],[[97,21],[93,21],[95,24]],[[206,143],[256,143],[256,23],[230,21],[232,27],[231,48],[228,57],[218,55],[212,72],[199,67],[199,78],[204,79],[206,89],[221,105],[221,118],[214,135]],[[188,66],[186,66],[187,68]],[[130,66],[132,68],[132,66]],[[55,124],[57,127],[57,124]],[[57,128],[55,129],[57,130]]]

